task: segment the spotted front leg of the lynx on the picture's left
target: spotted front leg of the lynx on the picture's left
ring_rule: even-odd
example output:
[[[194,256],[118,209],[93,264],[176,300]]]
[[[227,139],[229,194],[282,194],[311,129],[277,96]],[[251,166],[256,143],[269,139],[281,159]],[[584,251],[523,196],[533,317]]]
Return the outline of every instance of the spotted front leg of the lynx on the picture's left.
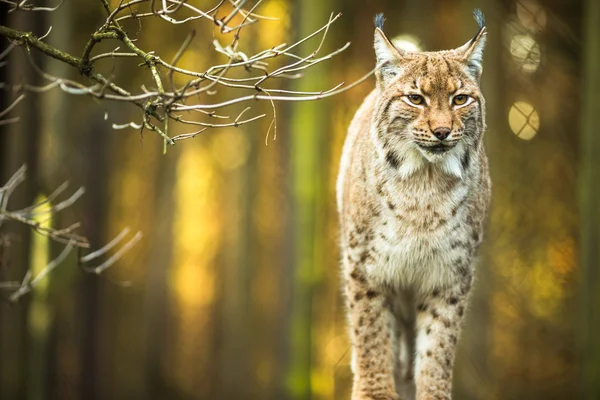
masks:
[[[384,294],[369,284],[366,253],[346,256],[344,275],[353,346],[352,400],[398,400],[394,386],[391,314]],[[362,262],[361,262],[362,261]]]

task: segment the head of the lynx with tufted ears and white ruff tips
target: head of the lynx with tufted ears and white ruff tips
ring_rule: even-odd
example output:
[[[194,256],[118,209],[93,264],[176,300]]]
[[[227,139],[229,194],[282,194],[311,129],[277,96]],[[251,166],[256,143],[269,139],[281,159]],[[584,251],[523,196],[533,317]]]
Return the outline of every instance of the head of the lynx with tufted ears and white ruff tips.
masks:
[[[479,31],[453,50],[407,52],[383,33],[375,17],[377,104],[373,137],[381,156],[404,177],[428,164],[462,177],[470,153],[481,145],[484,100],[479,88],[485,22],[475,11]]]

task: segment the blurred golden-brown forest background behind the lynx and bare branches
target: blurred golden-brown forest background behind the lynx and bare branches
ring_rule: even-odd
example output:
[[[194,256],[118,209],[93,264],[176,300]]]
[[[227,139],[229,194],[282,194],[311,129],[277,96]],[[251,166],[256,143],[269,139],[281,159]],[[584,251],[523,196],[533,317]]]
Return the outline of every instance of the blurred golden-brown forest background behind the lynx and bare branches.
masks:
[[[208,9],[217,1],[191,3]],[[245,49],[270,48],[341,11],[324,46],[351,47],[282,81],[319,91],[374,67],[377,12],[407,48],[437,50],[469,40],[473,9],[484,11],[493,202],[456,399],[600,398],[599,4],[267,0],[257,12],[280,19],[241,36]],[[46,41],[80,54],[106,14],[99,1],[68,0],[52,13],[8,15],[5,7],[1,18],[37,35],[52,25]],[[203,20],[147,21],[139,43],[172,55],[191,27],[197,37],[182,65],[202,71],[226,61],[211,47],[220,34]],[[33,54],[54,75],[76,73]],[[145,83],[135,64],[114,65],[115,74]],[[40,80],[26,63],[0,73],[2,81]],[[277,103],[275,140],[266,137],[271,105],[254,102],[267,118],[209,129],[165,155],[156,134],[111,129],[139,113],[133,106],[56,89],[28,96],[21,121],[0,126],[0,183],[28,166],[13,204],[32,204],[69,180],[86,195],[52,224],[81,221],[94,248],[124,226],[144,238],[100,276],[71,256],[18,303],[0,300],[0,399],[348,399],[334,188],[346,128],[373,86],[371,79],[328,99]],[[2,92],[2,109],[11,96]],[[62,249],[14,223],[0,234],[8,232],[18,239],[2,249],[10,257],[1,279],[20,280]]]

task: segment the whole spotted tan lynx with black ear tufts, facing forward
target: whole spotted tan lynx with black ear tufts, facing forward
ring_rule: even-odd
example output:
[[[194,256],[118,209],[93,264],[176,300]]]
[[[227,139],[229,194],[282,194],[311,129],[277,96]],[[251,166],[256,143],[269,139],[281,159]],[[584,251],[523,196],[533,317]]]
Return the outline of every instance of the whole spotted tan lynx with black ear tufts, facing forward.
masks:
[[[406,52],[375,18],[376,88],[337,183],[352,400],[450,399],[490,199],[479,82],[486,38]]]

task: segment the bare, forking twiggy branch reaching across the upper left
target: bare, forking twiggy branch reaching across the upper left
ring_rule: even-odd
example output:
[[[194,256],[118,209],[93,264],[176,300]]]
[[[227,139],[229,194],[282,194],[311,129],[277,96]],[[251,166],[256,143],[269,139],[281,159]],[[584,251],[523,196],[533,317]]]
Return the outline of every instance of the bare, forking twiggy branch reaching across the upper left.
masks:
[[[23,0],[20,3],[10,0],[0,0],[12,6],[11,11],[52,11],[54,8],[34,7],[28,3],[29,0]],[[306,37],[288,45],[281,43],[270,49],[265,49],[256,54],[249,55],[242,51],[240,45],[240,34],[248,25],[256,24],[260,20],[271,19],[256,13],[262,0],[220,0],[210,10],[203,11],[190,4],[188,0],[121,0],[118,5],[111,7],[106,0],[99,0],[107,13],[106,20],[102,25],[90,35],[90,38],[82,51],[81,57],[65,53],[55,47],[46,44],[42,38],[27,32],[21,32],[6,26],[0,25],[0,36],[5,36],[11,40],[8,49],[3,52],[6,57],[8,53],[17,47],[26,49],[36,49],[49,57],[62,61],[76,68],[81,75],[92,83],[74,81],[61,77],[52,76],[43,72],[32,60],[29,52],[26,55],[34,68],[48,82],[43,86],[8,85],[2,83],[5,88],[23,92],[46,92],[54,88],[69,93],[71,95],[90,96],[98,99],[121,101],[131,103],[141,110],[138,121],[129,121],[126,123],[114,124],[115,129],[131,127],[135,129],[147,129],[158,133],[164,141],[164,149],[167,145],[174,145],[177,141],[195,137],[203,131],[196,131],[190,134],[180,134],[172,136],[169,132],[169,122],[176,122],[184,125],[202,126],[205,128],[220,128],[234,126],[238,127],[258,119],[266,117],[266,114],[257,114],[255,116],[242,119],[242,114],[247,114],[249,108],[246,107],[237,116],[223,117],[231,118],[233,122],[215,124],[206,120],[198,119],[199,115],[194,114],[191,117],[184,117],[182,113],[203,112],[208,118],[217,117],[216,114],[206,112],[205,110],[223,110],[237,103],[250,101],[268,101],[273,108],[274,119],[271,125],[276,126],[275,121],[275,102],[279,101],[314,101],[325,97],[340,94],[357,84],[363,82],[373,74],[370,71],[365,77],[357,82],[345,85],[343,82],[335,85],[333,88],[302,92],[290,91],[278,88],[280,79],[298,79],[302,77],[305,70],[315,65],[327,61],[346,50],[349,43],[337,48],[336,50],[321,55],[321,51],[326,40],[329,29],[341,14],[332,14],[329,20],[319,29]],[[61,3],[62,4],[62,3]],[[177,62],[188,51],[190,44],[194,41],[195,30],[191,29],[189,35],[179,46],[179,50],[171,62],[165,61],[164,57],[156,54],[155,51],[145,50],[138,46],[137,41],[130,32],[124,27],[128,20],[147,20],[162,19],[170,24],[186,24],[196,20],[208,20],[218,27],[223,34],[233,33],[230,44],[223,44],[217,39],[213,40],[214,51],[225,55],[228,61],[223,64],[213,65],[204,71],[192,71],[177,67]],[[319,37],[318,46],[308,55],[300,55],[295,51],[304,42]],[[111,52],[96,53],[98,44],[102,42],[118,42],[118,46]],[[119,82],[118,77],[106,77],[97,72],[99,63],[115,58],[131,59],[140,62],[141,66],[146,67],[149,77],[152,79],[151,88],[141,87],[139,90],[129,90],[124,84]],[[0,58],[1,59],[1,58]],[[277,60],[278,64],[283,66],[272,68],[271,64]],[[236,71],[244,70],[250,76],[239,78]],[[177,87],[175,82],[185,82]],[[168,82],[168,86],[164,84]],[[210,97],[218,90],[224,90],[227,93],[233,93],[228,99],[221,102],[210,101]],[[0,113],[0,116],[7,114],[15,108],[19,100],[16,100],[11,106]],[[0,119],[0,123],[16,122],[16,119]]]

